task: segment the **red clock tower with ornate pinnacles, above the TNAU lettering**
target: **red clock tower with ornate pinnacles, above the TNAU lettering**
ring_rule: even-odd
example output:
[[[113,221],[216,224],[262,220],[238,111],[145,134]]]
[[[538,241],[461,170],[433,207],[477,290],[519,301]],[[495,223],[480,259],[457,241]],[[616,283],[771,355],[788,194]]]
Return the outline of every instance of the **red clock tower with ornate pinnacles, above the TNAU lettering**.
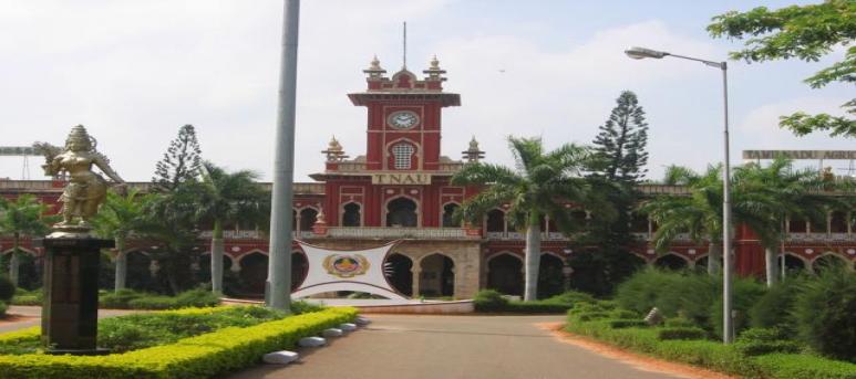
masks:
[[[443,92],[446,72],[437,59],[423,71],[424,80],[406,67],[386,77],[377,56],[363,72],[368,75],[367,91],[348,97],[369,110],[365,169],[439,170],[442,109],[461,105],[461,96]]]

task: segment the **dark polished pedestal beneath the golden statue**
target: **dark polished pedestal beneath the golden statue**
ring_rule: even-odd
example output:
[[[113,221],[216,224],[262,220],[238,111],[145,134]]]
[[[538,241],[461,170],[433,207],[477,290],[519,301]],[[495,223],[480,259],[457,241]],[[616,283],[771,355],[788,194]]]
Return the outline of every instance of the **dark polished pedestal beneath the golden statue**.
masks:
[[[44,304],[42,343],[48,354],[99,355],[99,266],[101,249],[114,241],[90,234],[54,233],[42,240]]]

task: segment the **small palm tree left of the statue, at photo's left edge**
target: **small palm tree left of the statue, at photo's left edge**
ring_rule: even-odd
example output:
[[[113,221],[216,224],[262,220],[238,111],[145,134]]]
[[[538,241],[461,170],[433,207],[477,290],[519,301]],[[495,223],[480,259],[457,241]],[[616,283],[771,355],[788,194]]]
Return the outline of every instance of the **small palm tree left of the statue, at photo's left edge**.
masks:
[[[18,285],[21,236],[44,235],[50,231],[44,217],[48,207],[32,194],[21,194],[14,201],[0,198],[0,234],[12,235],[9,278]]]

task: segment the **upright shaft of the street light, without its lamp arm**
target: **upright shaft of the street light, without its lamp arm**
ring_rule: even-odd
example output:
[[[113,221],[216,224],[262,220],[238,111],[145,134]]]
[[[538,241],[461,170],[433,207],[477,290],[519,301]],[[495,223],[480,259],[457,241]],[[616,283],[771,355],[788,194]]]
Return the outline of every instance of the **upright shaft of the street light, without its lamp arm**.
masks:
[[[728,64],[720,63],[722,69],[722,97],[725,116],[725,170],[722,173],[722,341],[731,344],[734,339],[731,307],[731,162],[729,158],[729,78]]]

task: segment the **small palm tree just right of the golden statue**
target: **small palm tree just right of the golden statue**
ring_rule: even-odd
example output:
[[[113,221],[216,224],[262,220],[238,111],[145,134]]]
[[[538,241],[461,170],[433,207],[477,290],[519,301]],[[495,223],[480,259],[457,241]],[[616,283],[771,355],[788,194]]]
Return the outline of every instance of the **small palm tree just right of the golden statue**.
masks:
[[[95,231],[103,238],[111,238],[116,243],[116,278],[114,291],[125,288],[127,277],[128,238],[145,230],[146,203],[151,196],[137,196],[137,190],[131,190],[126,196],[107,192],[107,198],[93,219]]]

